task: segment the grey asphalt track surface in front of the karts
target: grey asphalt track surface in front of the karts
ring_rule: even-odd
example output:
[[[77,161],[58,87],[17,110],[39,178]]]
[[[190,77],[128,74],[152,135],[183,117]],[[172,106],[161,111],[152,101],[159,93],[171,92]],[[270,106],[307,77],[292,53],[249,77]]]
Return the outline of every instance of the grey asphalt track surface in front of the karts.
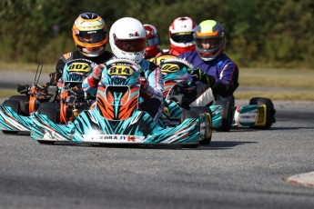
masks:
[[[0,134],[0,208],[314,208],[314,103],[275,102],[270,130],[177,146],[43,145]]]

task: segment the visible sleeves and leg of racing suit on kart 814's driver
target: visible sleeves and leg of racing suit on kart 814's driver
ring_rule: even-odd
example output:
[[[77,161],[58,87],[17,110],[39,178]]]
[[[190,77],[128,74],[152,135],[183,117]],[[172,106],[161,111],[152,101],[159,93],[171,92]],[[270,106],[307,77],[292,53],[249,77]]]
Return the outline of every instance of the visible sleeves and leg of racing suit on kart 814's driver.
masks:
[[[150,114],[154,120],[157,120],[161,113],[160,105],[163,102],[164,81],[160,69],[154,63],[142,59],[139,65],[142,70],[141,76],[145,78],[144,82],[141,81],[142,103],[139,107]],[[103,70],[106,70],[106,64],[96,66],[93,73],[83,81],[82,87],[86,93],[96,95],[97,86],[103,85],[101,79]]]

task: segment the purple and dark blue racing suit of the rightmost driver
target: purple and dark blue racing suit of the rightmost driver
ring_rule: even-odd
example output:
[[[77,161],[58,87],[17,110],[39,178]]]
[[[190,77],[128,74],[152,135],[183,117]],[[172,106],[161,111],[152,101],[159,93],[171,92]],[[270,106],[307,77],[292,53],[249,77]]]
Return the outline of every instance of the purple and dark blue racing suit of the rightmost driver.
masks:
[[[191,63],[195,69],[201,69],[208,77],[213,78],[212,84],[206,84],[211,87],[216,99],[232,97],[238,88],[238,66],[227,55],[221,54],[217,59],[204,61],[200,58],[197,51],[183,53],[178,58],[184,58]],[[196,83],[199,88],[197,96],[204,92],[204,85]],[[202,87],[203,86],[203,87]],[[234,98],[233,98],[234,100]]]

